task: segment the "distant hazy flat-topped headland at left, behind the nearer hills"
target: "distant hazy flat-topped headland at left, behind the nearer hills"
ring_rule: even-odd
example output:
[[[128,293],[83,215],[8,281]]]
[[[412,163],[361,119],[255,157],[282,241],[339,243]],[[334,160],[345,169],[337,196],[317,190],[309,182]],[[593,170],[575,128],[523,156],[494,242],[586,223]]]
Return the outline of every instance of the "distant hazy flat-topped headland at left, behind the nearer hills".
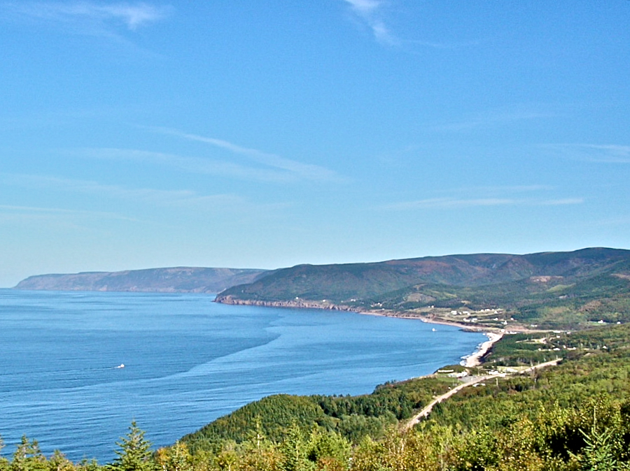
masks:
[[[253,282],[262,273],[265,273],[265,270],[178,267],[36,275],[22,280],[15,289],[218,293],[235,284]]]

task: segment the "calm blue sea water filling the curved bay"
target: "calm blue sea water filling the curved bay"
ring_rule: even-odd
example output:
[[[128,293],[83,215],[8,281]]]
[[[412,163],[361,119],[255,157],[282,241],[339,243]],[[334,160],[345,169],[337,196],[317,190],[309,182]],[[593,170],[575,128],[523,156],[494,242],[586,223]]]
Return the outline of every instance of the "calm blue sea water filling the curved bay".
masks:
[[[132,419],[155,447],[172,444],[269,394],[370,393],[458,363],[484,340],[415,320],[212,300],[0,289],[5,454],[27,435],[47,455],[106,463]]]

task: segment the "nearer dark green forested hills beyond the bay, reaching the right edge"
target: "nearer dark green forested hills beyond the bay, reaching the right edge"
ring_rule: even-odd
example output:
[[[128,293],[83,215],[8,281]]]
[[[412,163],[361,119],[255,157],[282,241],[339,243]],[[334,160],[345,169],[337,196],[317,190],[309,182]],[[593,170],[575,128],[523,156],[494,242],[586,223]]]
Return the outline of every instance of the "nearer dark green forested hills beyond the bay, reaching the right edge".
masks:
[[[630,319],[629,289],[630,250],[589,248],[300,265],[227,289],[217,302],[360,310],[505,308],[531,319],[558,307],[582,312],[586,320],[615,312]]]

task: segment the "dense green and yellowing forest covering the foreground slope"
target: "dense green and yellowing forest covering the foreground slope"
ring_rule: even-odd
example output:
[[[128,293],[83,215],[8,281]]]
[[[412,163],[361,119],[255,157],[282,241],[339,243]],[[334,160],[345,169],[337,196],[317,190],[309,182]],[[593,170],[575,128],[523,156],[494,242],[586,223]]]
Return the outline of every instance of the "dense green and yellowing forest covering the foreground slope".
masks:
[[[24,437],[0,470],[630,470],[629,335],[623,324],[506,335],[479,367],[365,396],[270,396],[157,451],[132,423],[107,465],[45,457]],[[470,377],[484,380],[405,427]]]

